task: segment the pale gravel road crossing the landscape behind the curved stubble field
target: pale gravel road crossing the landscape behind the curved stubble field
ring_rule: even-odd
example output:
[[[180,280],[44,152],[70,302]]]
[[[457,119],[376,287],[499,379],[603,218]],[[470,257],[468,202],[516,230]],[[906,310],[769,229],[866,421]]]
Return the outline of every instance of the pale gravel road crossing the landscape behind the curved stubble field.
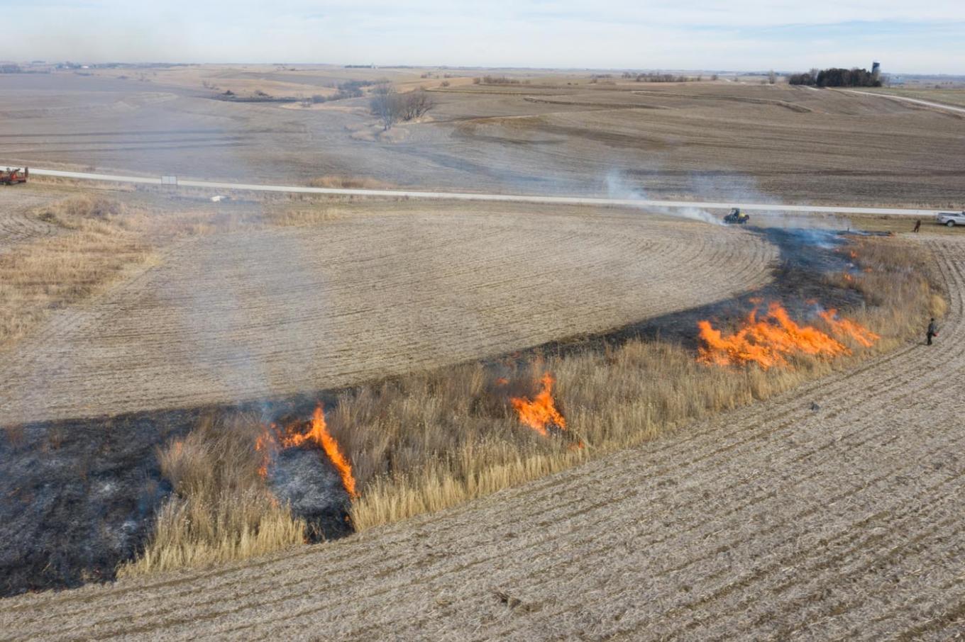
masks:
[[[161,185],[159,176],[128,176],[121,174],[90,174],[30,168],[31,174],[58,176],[79,180],[100,180],[116,183]],[[761,212],[800,212],[807,214],[892,214],[905,216],[933,216],[938,210],[905,209],[895,207],[838,207],[829,205],[791,205],[784,203],[760,203],[742,201],[652,201],[648,199],[603,199],[590,197],[552,197],[521,194],[473,194],[468,192],[419,192],[410,190],[341,189],[327,187],[302,187],[298,185],[261,185],[252,183],[225,183],[206,180],[178,180],[179,187],[201,187],[213,190],[242,190],[249,192],[283,192],[290,194],[330,194],[341,196],[399,197],[407,199],[436,199],[441,201],[510,201],[556,203],[561,205],[603,205],[621,207],[653,207],[664,209],[729,209],[741,207]]]

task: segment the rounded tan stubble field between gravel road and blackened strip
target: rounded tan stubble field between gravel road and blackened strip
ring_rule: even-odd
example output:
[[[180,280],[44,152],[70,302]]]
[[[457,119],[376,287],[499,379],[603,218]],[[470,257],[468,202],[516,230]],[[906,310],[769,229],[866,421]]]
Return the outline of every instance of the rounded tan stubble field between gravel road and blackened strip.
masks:
[[[203,236],[0,366],[5,423],[262,400],[510,352],[770,279],[758,235],[640,213],[347,217]]]

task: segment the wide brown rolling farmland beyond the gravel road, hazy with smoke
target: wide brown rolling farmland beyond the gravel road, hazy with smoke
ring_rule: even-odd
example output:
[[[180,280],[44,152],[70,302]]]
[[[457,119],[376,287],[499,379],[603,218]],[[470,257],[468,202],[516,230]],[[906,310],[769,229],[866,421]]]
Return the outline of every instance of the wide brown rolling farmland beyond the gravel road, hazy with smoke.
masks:
[[[438,73],[439,70],[436,70]],[[475,71],[482,75],[483,71]],[[0,77],[0,158],[61,169],[539,194],[893,203],[965,201],[965,120],[876,95],[733,82],[442,87],[419,70],[167,68]],[[373,137],[368,98],[292,109],[224,91],[324,93],[348,79],[425,86],[427,119]],[[375,128],[377,130],[377,128]],[[377,133],[377,131],[376,131]]]

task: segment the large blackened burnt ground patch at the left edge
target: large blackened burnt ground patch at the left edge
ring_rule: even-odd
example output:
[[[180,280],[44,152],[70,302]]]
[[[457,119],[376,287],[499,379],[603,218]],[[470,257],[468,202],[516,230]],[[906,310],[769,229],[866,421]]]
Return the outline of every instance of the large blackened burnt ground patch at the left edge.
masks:
[[[171,493],[157,447],[192,423],[168,414],[5,427],[0,597],[113,578]]]

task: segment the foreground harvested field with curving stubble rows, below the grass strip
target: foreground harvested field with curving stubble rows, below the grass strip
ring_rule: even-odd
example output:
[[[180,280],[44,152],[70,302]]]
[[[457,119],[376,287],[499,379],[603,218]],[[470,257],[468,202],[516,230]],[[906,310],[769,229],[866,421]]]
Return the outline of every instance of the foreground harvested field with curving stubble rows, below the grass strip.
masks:
[[[14,598],[0,638],[951,639],[965,242],[921,240],[951,297],[935,346],[346,540]]]

